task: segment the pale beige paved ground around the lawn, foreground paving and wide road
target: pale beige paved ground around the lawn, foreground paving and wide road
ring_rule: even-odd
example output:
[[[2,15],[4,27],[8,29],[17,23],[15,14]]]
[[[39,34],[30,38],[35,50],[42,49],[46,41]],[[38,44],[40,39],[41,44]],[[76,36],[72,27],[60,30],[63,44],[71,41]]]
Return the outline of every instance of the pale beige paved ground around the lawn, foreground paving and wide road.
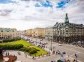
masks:
[[[33,38],[32,41],[34,41],[36,38]],[[40,39],[37,39],[37,41],[39,41]],[[45,42],[46,40],[44,39],[43,42]],[[46,41],[48,42],[48,41]],[[75,53],[77,53],[78,58],[77,60],[79,62],[83,62],[84,58],[83,58],[83,51],[84,49],[81,47],[76,47],[74,45],[67,45],[67,44],[62,44],[62,46],[59,46],[58,43],[53,42],[52,43],[53,50],[57,51],[59,50],[61,53],[62,52],[66,52],[66,55],[64,57],[66,57],[67,59],[73,60],[75,58]],[[50,48],[50,42],[48,42],[48,44],[46,45],[47,49]],[[49,50],[50,51],[50,50]],[[51,62],[51,61],[57,61],[58,59],[61,58],[61,56],[59,54],[50,54],[50,56],[40,56],[40,57],[35,57],[35,59],[33,59],[33,57],[29,56],[27,53],[25,52],[21,52],[21,51],[14,51],[14,50],[7,50],[5,52],[9,52],[10,55],[15,55],[17,56],[17,61],[22,61],[22,62]],[[4,54],[5,54],[4,52]],[[18,52],[20,52],[20,55],[18,54]]]

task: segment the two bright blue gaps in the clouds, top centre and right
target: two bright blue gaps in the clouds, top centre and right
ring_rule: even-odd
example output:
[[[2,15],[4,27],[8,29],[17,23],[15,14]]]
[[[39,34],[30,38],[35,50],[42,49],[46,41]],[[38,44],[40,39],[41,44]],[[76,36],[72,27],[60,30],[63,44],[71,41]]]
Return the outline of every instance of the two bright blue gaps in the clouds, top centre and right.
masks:
[[[57,8],[64,8],[66,4],[68,4],[70,0],[60,0],[59,2],[56,2],[56,7]],[[52,7],[53,4],[49,1],[46,0],[44,2],[39,2],[35,4],[36,7]]]

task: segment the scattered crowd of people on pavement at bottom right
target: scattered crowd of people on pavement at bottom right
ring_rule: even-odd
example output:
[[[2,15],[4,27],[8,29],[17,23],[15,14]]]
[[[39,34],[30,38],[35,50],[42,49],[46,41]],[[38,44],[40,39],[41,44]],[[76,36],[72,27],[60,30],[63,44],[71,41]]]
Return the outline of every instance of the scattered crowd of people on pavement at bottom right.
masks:
[[[78,58],[77,53],[74,54],[75,58],[70,58],[70,56],[67,55],[66,52],[61,52],[61,51],[59,51],[59,50],[53,51],[52,54],[60,55],[60,57],[61,57],[62,59],[59,59],[58,61],[51,61],[51,62],[79,62],[79,61],[77,60],[77,58]],[[65,55],[67,55],[67,58],[64,57]]]

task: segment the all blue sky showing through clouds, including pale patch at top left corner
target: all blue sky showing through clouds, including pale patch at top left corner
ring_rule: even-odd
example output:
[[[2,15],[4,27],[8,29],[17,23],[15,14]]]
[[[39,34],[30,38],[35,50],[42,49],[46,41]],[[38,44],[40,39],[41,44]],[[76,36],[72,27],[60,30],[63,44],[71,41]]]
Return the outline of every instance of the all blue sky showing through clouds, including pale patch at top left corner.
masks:
[[[23,0],[26,1],[26,0]],[[57,8],[63,8],[70,0],[60,0],[59,2],[56,2]],[[15,1],[12,0],[0,0],[1,4],[8,4],[13,3]],[[53,4],[49,1],[39,1],[39,3],[35,4],[36,7],[52,7]]]

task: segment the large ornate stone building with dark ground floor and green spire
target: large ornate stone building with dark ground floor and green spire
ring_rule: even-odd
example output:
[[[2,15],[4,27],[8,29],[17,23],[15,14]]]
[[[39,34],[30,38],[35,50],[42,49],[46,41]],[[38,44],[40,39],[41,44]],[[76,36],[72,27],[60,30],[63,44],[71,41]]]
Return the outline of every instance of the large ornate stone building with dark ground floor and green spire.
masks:
[[[76,42],[84,40],[84,25],[70,23],[68,14],[64,23],[56,23],[53,26],[53,41],[56,42]]]

